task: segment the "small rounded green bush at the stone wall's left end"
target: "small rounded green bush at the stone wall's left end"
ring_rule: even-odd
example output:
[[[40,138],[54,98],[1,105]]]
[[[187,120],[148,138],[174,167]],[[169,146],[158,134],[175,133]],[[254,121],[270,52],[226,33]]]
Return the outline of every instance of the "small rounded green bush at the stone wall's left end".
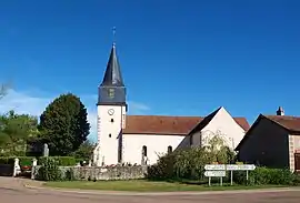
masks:
[[[40,181],[60,181],[62,177],[58,162],[52,158],[46,158],[38,171],[37,179]]]

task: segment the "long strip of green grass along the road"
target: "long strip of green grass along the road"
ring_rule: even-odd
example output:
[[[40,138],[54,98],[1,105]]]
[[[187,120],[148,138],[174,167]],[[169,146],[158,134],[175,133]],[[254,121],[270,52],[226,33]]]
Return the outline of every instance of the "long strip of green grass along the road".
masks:
[[[47,182],[46,186],[63,187],[63,189],[82,189],[82,190],[103,190],[103,191],[131,191],[131,192],[174,192],[174,191],[224,191],[224,190],[249,190],[249,189],[267,189],[267,187],[283,187],[282,185],[262,185],[262,186],[246,186],[246,185],[194,185],[170,182],[153,182],[153,181],[70,181],[70,182]]]

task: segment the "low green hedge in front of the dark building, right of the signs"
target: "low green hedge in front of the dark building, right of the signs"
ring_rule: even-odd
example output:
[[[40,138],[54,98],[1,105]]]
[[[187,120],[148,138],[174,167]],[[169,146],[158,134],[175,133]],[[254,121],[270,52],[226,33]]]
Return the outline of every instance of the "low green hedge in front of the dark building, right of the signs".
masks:
[[[246,179],[246,171],[238,171],[233,172],[233,179],[238,184],[250,185],[294,185],[299,183],[298,175],[290,172],[288,169],[257,168],[254,171],[249,172],[248,182]]]

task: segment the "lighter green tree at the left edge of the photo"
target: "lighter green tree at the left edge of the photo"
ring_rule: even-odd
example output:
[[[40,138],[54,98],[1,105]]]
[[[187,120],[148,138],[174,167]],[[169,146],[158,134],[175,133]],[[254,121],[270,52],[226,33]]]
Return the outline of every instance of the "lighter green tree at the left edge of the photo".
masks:
[[[10,111],[0,115],[1,152],[10,155],[24,154],[28,139],[38,133],[38,119],[28,114],[16,114]]]

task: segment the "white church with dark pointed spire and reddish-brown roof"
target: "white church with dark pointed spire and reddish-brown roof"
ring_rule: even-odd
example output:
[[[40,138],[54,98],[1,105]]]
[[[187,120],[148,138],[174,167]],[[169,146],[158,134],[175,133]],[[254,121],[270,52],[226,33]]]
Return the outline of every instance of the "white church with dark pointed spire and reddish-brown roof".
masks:
[[[206,116],[127,115],[127,89],[116,49],[113,43],[98,88],[97,166],[154,164],[173,150],[208,144],[216,134],[232,150],[243,139],[248,121],[232,118],[223,106]]]

